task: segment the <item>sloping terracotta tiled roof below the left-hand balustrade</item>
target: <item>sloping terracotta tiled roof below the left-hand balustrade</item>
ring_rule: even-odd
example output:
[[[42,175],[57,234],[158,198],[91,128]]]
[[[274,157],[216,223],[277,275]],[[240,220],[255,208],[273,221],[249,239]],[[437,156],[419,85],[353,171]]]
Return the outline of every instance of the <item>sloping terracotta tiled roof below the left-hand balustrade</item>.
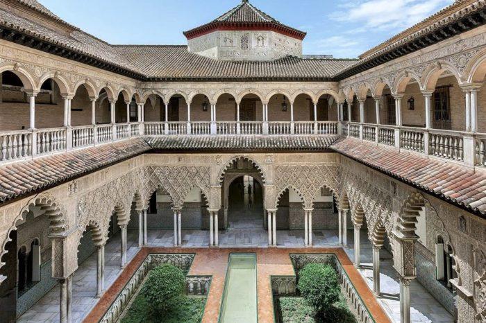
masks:
[[[0,167],[0,203],[62,184],[150,150],[143,139],[121,141]]]

